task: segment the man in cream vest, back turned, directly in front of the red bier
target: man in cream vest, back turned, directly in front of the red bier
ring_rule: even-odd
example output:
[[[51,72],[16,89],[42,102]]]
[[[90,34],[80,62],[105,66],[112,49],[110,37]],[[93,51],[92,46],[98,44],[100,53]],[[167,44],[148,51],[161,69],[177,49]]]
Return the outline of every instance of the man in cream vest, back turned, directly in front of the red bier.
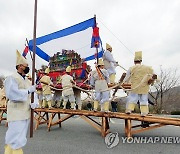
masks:
[[[61,77],[62,94],[63,94],[63,109],[66,109],[66,104],[69,100],[71,103],[71,109],[75,109],[75,97],[73,92],[73,84],[76,84],[73,77],[70,76],[71,67],[66,68],[66,73]]]

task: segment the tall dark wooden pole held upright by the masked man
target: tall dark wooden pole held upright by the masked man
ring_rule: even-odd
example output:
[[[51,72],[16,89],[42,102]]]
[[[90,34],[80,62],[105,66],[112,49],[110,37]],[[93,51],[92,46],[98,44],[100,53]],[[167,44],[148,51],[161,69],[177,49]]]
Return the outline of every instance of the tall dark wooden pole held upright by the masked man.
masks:
[[[32,61],[32,85],[34,85],[35,79],[35,56],[36,56],[36,25],[37,25],[37,0],[34,4],[34,32],[33,32],[33,61]],[[31,95],[31,103],[34,102],[34,93]],[[31,120],[30,120],[30,137],[33,137],[33,118],[34,110],[31,109]]]

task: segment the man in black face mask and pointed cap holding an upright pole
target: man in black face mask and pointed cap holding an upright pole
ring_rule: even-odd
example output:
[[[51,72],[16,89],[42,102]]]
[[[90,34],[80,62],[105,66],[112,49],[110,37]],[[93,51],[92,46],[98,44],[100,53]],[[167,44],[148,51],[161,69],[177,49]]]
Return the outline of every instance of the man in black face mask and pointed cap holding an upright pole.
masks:
[[[5,80],[7,99],[8,130],[5,136],[5,154],[23,154],[22,147],[27,142],[27,131],[30,119],[30,107],[38,104],[30,103],[30,94],[36,86],[31,86],[26,74],[29,72],[27,60],[17,51],[17,72]],[[35,105],[35,106],[34,106]]]

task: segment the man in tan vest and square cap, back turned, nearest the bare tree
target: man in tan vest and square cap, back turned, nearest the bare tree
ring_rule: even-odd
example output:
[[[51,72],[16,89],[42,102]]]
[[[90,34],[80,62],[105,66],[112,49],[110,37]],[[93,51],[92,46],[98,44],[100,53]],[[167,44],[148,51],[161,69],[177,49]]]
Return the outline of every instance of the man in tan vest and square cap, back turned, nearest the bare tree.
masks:
[[[148,108],[148,91],[149,80],[152,79],[153,69],[150,66],[141,65],[142,51],[135,52],[134,66],[130,67],[124,79],[125,82],[130,81],[132,91],[127,98],[126,113],[130,114],[137,102],[140,102],[140,111],[142,116],[149,113]]]

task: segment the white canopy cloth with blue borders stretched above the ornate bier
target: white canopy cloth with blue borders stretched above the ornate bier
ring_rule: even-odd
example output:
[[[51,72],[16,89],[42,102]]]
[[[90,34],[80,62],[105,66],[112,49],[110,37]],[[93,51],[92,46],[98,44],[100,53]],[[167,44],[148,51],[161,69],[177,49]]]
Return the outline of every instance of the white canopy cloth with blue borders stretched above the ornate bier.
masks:
[[[29,49],[33,50],[33,40],[29,41]],[[96,49],[98,49],[98,53]],[[103,48],[96,26],[96,18],[91,18],[68,28],[38,37],[36,39],[36,54],[50,61],[52,55],[63,49],[75,50],[85,61],[102,57]]]

